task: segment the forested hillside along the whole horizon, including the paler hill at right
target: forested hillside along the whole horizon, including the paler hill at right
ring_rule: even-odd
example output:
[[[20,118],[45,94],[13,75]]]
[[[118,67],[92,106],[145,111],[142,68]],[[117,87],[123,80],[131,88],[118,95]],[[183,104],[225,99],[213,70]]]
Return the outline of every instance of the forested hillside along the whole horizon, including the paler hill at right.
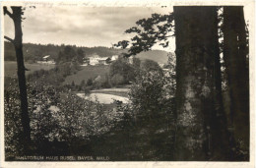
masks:
[[[32,44],[32,43],[24,43],[24,57],[26,62],[34,62],[36,60],[40,60],[45,55],[51,55],[52,58],[57,59],[58,54],[61,50],[64,50],[66,45],[54,45],[54,44]],[[5,61],[15,61],[15,50],[13,44],[5,41]],[[100,57],[107,57],[112,55],[118,55],[123,52],[127,52],[127,49],[116,49],[116,48],[107,48],[102,46],[97,47],[78,47],[76,45],[72,45],[72,48],[77,51],[78,49],[82,49],[84,51],[85,56],[90,56],[94,53],[99,55]],[[139,53],[137,58],[142,60],[151,59],[156,62],[166,63],[167,62],[167,52],[161,50],[152,50],[147,52]]]

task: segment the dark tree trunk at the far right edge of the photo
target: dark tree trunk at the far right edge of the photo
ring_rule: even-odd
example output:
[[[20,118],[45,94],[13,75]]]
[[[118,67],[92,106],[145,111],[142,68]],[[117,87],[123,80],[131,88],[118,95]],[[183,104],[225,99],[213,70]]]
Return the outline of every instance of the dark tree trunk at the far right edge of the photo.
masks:
[[[224,64],[234,140],[249,152],[249,71],[243,7],[224,7]]]

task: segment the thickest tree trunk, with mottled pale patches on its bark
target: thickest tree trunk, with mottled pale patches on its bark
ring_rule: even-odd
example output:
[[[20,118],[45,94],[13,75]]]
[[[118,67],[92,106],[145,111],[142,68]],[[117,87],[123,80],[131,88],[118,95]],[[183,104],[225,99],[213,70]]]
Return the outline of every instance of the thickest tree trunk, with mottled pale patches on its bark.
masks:
[[[174,20],[176,160],[209,160],[216,156],[225,159],[224,148],[220,150],[224,136],[217,139],[225,128],[224,124],[217,126],[219,115],[224,115],[216,8],[174,7]]]

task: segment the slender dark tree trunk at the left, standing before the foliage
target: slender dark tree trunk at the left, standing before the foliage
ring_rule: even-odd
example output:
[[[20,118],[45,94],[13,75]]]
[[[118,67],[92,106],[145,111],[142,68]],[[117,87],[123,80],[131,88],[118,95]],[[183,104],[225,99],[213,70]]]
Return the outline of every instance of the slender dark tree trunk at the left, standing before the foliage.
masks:
[[[17,65],[18,65],[18,81],[20,88],[20,98],[21,98],[21,118],[23,126],[23,138],[25,152],[29,151],[29,145],[31,142],[31,127],[30,127],[30,117],[28,110],[28,94],[27,94],[27,84],[25,76],[25,65],[23,56],[23,31],[22,31],[22,8],[12,7],[13,10],[13,21],[15,26],[15,39],[14,46],[16,51]]]

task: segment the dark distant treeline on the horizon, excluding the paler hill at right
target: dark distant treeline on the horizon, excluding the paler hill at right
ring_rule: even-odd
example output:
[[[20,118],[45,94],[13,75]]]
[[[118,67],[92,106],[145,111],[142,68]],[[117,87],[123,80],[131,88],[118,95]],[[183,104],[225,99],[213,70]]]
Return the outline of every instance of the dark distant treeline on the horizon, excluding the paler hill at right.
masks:
[[[72,47],[75,51],[82,49],[85,56],[90,56],[94,53],[101,57],[116,55],[124,52],[121,49],[107,48],[107,47],[79,47],[76,45],[54,45],[54,44],[32,44],[24,43],[24,59],[26,62],[34,62],[40,60],[45,55],[50,55],[53,59],[58,59],[60,51],[63,51],[66,46]],[[4,56],[5,61],[16,61],[15,49],[11,42],[4,42]]]

